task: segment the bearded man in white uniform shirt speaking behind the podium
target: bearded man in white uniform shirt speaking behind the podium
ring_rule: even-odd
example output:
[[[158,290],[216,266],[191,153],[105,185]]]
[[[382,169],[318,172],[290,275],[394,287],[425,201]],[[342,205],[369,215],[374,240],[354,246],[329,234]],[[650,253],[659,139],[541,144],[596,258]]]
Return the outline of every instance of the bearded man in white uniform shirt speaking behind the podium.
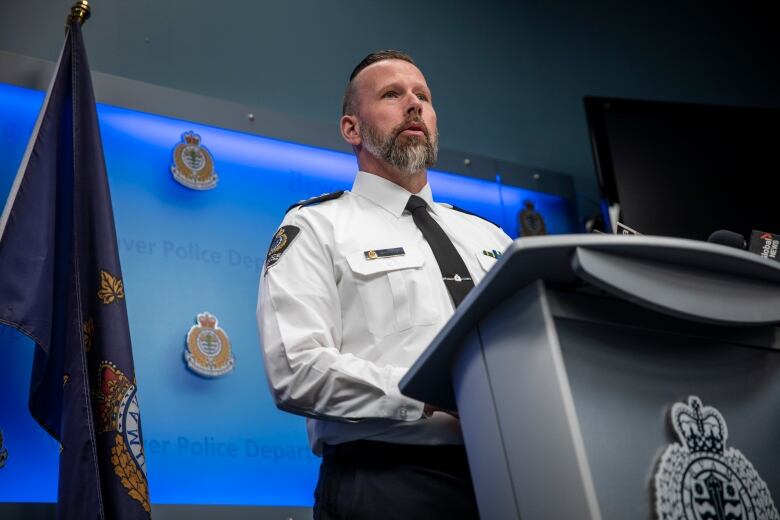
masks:
[[[398,382],[509,237],[435,203],[431,92],[412,58],[367,56],[344,93],[352,190],[294,205],[274,235],[258,323],[277,406],[323,456],[318,519],[477,518],[457,413]]]

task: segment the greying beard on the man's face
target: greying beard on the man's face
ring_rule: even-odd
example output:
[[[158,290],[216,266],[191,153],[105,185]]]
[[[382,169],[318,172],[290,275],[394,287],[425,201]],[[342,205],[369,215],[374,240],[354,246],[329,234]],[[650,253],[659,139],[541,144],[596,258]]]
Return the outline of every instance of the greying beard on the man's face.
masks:
[[[382,135],[376,128],[361,121],[360,138],[368,153],[411,176],[436,164],[439,155],[439,136],[434,135],[430,138],[426,134],[422,139],[401,137],[401,132],[407,124],[404,123],[388,134]]]

